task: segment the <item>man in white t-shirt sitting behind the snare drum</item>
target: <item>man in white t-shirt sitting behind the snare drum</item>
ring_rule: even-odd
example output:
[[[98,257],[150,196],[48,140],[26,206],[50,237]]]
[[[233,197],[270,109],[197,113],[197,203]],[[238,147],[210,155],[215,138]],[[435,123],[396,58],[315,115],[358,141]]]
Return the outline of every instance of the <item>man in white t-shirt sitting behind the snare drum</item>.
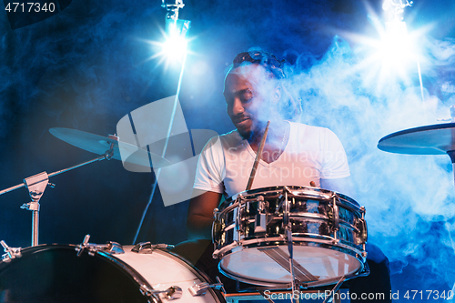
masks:
[[[338,137],[327,128],[285,120],[298,112],[298,106],[281,85],[282,67],[275,56],[263,51],[240,53],[234,59],[223,95],[227,115],[237,129],[211,139],[199,157],[195,195],[187,214],[189,239],[211,239],[214,208],[219,207],[222,197],[246,190],[268,121],[268,135],[252,189],[312,186],[353,197],[348,160]],[[199,240],[198,243],[204,242]],[[208,242],[205,243],[207,246]],[[193,261],[213,278],[217,263],[210,256],[213,252],[210,248],[201,252],[202,257],[197,256],[197,261],[193,257]],[[376,263],[387,263],[378,249],[375,250],[379,251]],[[380,273],[382,276],[386,273],[387,277],[379,277],[384,281],[375,281],[379,288],[369,288],[369,292],[380,291],[389,298],[386,263]],[[352,281],[356,279],[360,278]],[[228,284],[226,279],[224,282]],[[362,289],[351,287],[352,290],[360,297]]]

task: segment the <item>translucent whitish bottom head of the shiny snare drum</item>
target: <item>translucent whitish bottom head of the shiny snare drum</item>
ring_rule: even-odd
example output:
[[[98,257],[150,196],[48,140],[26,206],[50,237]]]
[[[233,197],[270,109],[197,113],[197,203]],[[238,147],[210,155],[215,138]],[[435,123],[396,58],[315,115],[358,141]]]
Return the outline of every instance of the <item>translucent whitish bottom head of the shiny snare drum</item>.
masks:
[[[278,249],[288,254],[287,246]],[[294,260],[317,278],[316,281],[301,281],[313,282],[311,286],[336,283],[339,278],[355,274],[363,268],[358,258],[339,250],[311,246],[294,246],[293,249]],[[277,286],[292,282],[289,271],[258,248],[232,252],[222,258],[218,266],[227,277],[250,284]]]

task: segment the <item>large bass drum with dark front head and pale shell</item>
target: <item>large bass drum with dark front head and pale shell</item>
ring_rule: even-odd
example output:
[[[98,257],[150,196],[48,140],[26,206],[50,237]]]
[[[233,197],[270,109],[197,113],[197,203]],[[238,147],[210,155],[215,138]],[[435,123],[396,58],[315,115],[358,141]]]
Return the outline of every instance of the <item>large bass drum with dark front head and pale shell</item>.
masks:
[[[0,262],[0,302],[166,303],[171,287],[182,289],[175,303],[226,302],[211,288],[193,296],[189,288],[208,283],[207,277],[177,255],[150,245],[138,252],[116,245],[116,253],[92,244],[22,249],[22,256]]]

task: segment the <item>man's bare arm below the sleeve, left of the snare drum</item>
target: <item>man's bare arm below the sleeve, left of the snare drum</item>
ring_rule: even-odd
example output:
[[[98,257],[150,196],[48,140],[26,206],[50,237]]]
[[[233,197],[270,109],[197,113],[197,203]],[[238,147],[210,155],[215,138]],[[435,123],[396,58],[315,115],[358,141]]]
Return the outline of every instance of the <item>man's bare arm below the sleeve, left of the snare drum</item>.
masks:
[[[188,239],[212,238],[213,209],[218,207],[221,197],[216,192],[194,190],[187,213]]]

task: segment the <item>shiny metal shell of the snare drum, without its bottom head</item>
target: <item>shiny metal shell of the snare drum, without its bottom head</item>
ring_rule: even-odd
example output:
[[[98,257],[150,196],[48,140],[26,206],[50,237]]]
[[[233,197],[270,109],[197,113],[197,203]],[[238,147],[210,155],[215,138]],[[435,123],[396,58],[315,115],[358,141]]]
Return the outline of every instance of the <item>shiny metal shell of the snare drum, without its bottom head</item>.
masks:
[[[363,239],[361,238],[362,214],[359,204],[344,195],[335,194],[329,190],[313,187],[288,187],[289,221],[291,224],[293,241],[295,245],[307,245],[313,239],[332,240],[337,233],[341,244],[349,249],[362,251]],[[241,196],[244,206],[232,207],[238,196]],[[230,197],[220,207],[219,212],[222,230],[217,233],[214,241],[216,248],[222,249],[234,241],[248,242],[248,247],[268,246],[267,241],[255,239],[277,238],[285,234],[283,225],[283,211],[277,211],[278,204],[283,197],[283,187],[267,187],[249,190],[234,197]],[[335,196],[334,196],[335,195]],[[255,230],[258,215],[258,197],[264,197],[267,202],[267,230]],[[339,229],[334,230],[333,197],[337,199]],[[283,245],[285,242],[282,237]],[[335,249],[336,246],[334,247]],[[344,250],[343,246],[339,247]]]

